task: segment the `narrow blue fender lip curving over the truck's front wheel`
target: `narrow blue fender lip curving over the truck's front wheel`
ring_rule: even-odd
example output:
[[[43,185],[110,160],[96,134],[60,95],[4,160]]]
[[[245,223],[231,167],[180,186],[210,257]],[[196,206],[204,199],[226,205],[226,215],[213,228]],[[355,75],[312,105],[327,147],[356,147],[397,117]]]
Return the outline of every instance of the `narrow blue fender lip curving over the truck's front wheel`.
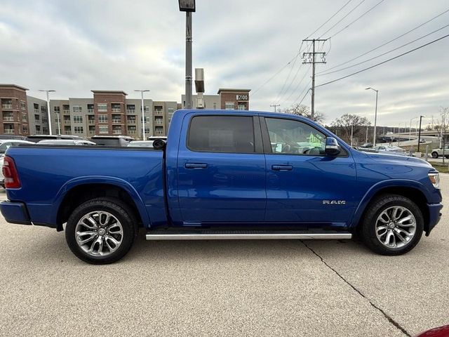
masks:
[[[424,194],[424,197],[429,201],[431,199],[429,190],[427,190],[427,187],[416,180],[408,180],[408,179],[389,179],[389,180],[383,180],[379,183],[376,183],[375,185],[371,186],[368,192],[363,196],[360,203],[358,203],[357,209],[354,212],[354,216],[351,219],[351,222],[349,223],[349,227],[355,227],[358,222],[361,220],[361,217],[363,216],[363,213],[366,210],[366,206],[370,203],[370,201],[373,199],[375,194],[378,192],[391,187],[408,187],[413,188],[415,190],[418,190]]]

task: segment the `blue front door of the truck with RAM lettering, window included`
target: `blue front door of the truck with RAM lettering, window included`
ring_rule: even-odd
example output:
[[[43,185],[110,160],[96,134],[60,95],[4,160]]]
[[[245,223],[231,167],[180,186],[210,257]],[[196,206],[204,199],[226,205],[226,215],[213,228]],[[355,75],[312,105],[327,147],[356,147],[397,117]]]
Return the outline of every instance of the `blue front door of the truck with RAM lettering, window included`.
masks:
[[[346,150],[324,152],[326,135],[305,121],[262,118],[267,163],[265,221],[344,227],[354,213],[356,170]]]

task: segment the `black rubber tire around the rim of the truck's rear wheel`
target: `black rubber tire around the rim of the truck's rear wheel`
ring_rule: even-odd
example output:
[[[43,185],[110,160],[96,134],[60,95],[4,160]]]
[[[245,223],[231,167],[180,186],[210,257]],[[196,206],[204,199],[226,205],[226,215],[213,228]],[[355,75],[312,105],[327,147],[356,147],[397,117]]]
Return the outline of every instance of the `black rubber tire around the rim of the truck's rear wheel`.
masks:
[[[121,224],[123,234],[119,234],[121,242],[115,251],[110,251],[106,256],[96,255],[84,251],[78,242],[76,242],[76,225],[79,223],[83,216],[95,211],[103,211],[112,214]],[[89,224],[89,223],[88,223]],[[99,227],[98,227],[99,228]],[[105,227],[106,228],[106,227]],[[100,232],[100,230],[98,230]],[[112,233],[112,232],[111,232]],[[107,233],[107,234],[111,234]],[[95,198],[84,202],[69,216],[67,225],[65,227],[65,239],[69,245],[69,249],[84,262],[94,265],[105,265],[108,263],[114,263],[117,260],[123,258],[128,253],[131,246],[133,246],[135,237],[138,235],[138,225],[135,219],[135,214],[127,204],[124,204],[119,199],[114,198]],[[98,237],[99,235],[96,235]],[[116,235],[117,238],[117,235]],[[81,238],[80,238],[81,239]],[[106,240],[104,240],[105,242]],[[90,242],[89,242],[90,244]],[[106,247],[106,246],[105,246]],[[92,248],[92,247],[91,247]]]

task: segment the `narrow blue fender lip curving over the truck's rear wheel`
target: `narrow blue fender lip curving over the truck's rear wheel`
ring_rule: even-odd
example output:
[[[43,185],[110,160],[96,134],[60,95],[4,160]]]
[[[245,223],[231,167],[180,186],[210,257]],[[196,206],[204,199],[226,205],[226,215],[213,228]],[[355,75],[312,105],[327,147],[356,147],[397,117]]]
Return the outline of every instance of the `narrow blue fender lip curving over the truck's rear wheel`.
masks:
[[[65,196],[67,195],[67,192],[72,190],[72,188],[79,186],[79,185],[87,185],[87,184],[108,184],[108,185],[114,185],[117,187],[123,188],[130,197],[134,200],[135,206],[139,211],[140,218],[142,219],[142,223],[144,226],[148,227],[151,225],[151,220],[148,216],[147,209],[145,209],[145,204],[142,201],[142,198],[138,194],[138,192],[135,190],[133,185],[128,183],[126,180],[115,178],[115,177],[109,177],[109,176],[84,176],[84,177],[77,177],[73,178],[72,180],[67,181],[60,190],[58,191],[58,194],[56,194],[56,197],[53,201],[53,208],[51,212],[51,223],[56,223],[56,220],[58,218],[58,211],[60,209],[60,206],[62,204],[62,201],[64,200]]]

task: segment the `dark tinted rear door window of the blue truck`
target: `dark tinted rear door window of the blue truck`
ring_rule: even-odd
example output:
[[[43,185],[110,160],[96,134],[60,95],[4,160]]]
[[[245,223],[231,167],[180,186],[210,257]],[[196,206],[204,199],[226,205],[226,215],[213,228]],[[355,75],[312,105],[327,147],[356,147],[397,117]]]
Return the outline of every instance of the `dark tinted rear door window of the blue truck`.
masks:
[[[190,124],[188,147],[206,152],[255,152],[253,117],[194,117]]]

